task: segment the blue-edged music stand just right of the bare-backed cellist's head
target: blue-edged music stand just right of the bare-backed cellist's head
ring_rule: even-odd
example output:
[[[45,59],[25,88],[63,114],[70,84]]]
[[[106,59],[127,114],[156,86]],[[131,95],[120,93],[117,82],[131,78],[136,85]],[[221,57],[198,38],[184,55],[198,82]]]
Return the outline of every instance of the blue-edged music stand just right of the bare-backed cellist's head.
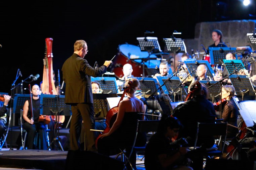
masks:
[[[134,77],[139,80],[141,93],[145,97],[145,95],[152,95],[158,89],[157,79],[148,78],[148,77]],[[160,90],[157,91],[160,94]],[[146,98],[146,97],[145,97]]]

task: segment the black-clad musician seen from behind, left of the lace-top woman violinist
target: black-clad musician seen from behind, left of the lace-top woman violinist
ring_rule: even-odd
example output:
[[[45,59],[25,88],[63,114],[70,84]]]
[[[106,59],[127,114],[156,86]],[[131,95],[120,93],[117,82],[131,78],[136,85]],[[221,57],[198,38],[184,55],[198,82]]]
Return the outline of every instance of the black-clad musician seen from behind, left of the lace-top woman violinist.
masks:
[[[183,124],[184,129],[179,132],[178,138],[191,137],[189,146],[194,146],[197,133],[197,122],[215,122],[217,117],[213,104],[207,99],[208,89],[205,84],[196,81],[189,88],[189,97],[186,102],[179,104],[172,111]],[[193,114],[191,114],[193,113]],[[211,148],[214,144],[212,137],[199,139],[200,144]]]

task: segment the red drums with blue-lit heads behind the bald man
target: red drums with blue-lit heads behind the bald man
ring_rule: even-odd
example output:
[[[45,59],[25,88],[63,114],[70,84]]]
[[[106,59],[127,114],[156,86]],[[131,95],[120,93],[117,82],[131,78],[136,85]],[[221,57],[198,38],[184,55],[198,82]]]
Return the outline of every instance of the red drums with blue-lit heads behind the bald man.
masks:
[[[145,68],[156,68],[160,64],[160,60],[157,60],[157,56],[150,55],[148,60],[148,52],[142,52],[138,46],[130,44],[122,44],[118,47],[118,54],[115,57],[111,71],[118,77],[123,77],[123,66],[127,63],[132,65],[132,75],[134,77],[141,77],[143,72],[143,62]]]

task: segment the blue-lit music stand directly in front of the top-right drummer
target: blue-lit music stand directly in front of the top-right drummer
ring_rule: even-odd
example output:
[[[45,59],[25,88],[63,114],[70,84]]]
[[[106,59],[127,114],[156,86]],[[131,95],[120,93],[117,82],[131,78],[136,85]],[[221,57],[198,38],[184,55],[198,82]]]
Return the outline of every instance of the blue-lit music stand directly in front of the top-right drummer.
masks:
[[[211,59],[211,65],[221,65],[222,60],[226,59],[227,53],[236,52],[236,47],[209,47],[209,54]],[[237,59],[237,54],[236,54]]]

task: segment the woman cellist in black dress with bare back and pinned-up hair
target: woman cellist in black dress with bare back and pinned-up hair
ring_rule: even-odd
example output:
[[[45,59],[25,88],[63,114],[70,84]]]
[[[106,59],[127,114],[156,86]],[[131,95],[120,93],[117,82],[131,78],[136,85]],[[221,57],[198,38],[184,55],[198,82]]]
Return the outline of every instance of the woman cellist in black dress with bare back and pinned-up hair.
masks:
[[[112,125],[108,133],[102,134],[98,139],[97,147],[98,153],[104,155],[115,155],[120,153],[119,148],[126,149],[127,157],[130,154],[130,146],[134,141],[136,132],[137,119],[142,120],[142,114],[144,113],[143,102],[135,97],[134,92],[139,86],[139,81],[136,78],[127,80],[125,89],[127,98],[123,99],[119,103],[117,118]],[[143,146],[146,142],[145,134],[141,135],[141,138],[137,140],[138,146]],[[137,144],[136,144],[137,145]],[[114,151],[118,151],[114,153]],[[133,153],[130,162],[136,164],[136,154]],[[136,166],[134,166],[136,167]]]

